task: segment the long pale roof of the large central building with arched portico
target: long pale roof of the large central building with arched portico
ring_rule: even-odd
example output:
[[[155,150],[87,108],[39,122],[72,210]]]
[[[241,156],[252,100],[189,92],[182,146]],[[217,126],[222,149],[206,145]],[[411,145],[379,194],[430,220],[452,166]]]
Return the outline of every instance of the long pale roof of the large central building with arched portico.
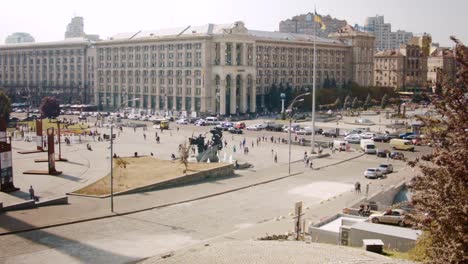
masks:
[[[179,36],[213,36],[225,34],[241,34],[249,35],[259,39],[305,42],[313,42],[315,38],[317,43],[343,45],[343,42],[339,40],[320,38],[307,34],[283,33],[278,31],[248,30],[242,21],[234,22],[231,24],[206,24],[202,26],[187,26],[170,29],[120,33],[110,37],[106,41],[159,39]]]

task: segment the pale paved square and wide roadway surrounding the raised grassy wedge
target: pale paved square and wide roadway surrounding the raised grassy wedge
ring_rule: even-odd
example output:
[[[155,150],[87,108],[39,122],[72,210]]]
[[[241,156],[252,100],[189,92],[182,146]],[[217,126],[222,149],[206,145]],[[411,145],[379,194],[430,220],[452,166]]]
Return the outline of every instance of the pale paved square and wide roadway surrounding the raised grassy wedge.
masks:
[[[139,155],[153,152],[157,158],[169,159],[188,137],[209,129],[181,125],[177,131],[177,126],[171,125],[171,130],[163,133],[152,127],[146,131],[124,128],[115,142],[115,152],[120,156],[132,156],[136,151]],[[107,128],[98,130],[109,133]],[[156,131],[160,144],[154,139]],[[362,172],[385,159],[358,151],[330,153],[330,157],[314,160],[315,169],[310,169],[302,162],[309,147],[294,145],[293,175],[288,176],[288,145],[261,141],[257,146],[256,139],[264,135],[287,137],[286,133],[263,131],[224,134],[228,146],[221,156],[232,155],[241,163],[253,164],[252,168],[236,171],[231,177],[117,196],[116,213],[110,212],[109,199],[76,196],[69,197],[68,205],[6,212],[0,215],[0,234],[53,227],[1,235],[0,243],[6,246],[0,248],[0,263],[44,263],[51,259],[55,263],[128,263],[145,258],[158,261],[168,252],[177,254],[179,250],[205,243],[248,241],[266,233],[282,234],[293,230],[290,214],[297,201],[304,202],[306,219],[315,222],[365,198],[364,192],[354,193],[356,181],[370,183],[370,196],[409,179],[413,173],[403,162],[393,161],[395,173],[382,180],[365,180]],[[238,148],[244,138],[250,148],[247,155]],[[87,143],[93,151],[86,149]],[[92,138],[62,146],[63,156],[70,162],[57,163],[63,171],[61,176],[23,175],[22,171],[27,169],[45,169],[45,163],[33,162],[44,154],[17,154],[19,150],[34,148],[33,143],[25,141],[15,140],[13,147],[15,185],[21,191],[16,196],[2,194],[2,199],[26,198],[29,185],[41,197],[61,196],[96,181],[110,169],[109,142]],[[278,163],[273,160],[272,150],[278,155]]]

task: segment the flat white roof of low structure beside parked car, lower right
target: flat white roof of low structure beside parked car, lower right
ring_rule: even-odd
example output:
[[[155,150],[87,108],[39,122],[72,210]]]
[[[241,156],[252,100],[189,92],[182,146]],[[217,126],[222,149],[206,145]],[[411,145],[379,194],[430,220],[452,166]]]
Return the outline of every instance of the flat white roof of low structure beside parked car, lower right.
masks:
[[[414,230],[411,228],[404,228],[392,225],[373,224],[369,222],[359,222],[351,226],[351,229],[359,229],[373,233],[379,233],[382,235],[406,238],[411,240],[418,239],[419,235],[422,234],[421,230]]]

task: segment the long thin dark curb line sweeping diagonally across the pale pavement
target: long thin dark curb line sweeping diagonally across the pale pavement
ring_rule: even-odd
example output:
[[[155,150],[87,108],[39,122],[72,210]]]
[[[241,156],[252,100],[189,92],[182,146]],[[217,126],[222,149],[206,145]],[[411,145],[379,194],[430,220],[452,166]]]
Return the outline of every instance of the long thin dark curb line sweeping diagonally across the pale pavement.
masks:
[[[361,157],[363,155],[365,155],[365,154],[361,154],[361,155],[358,155],[358,156],[355,156],[355,157],[352,157],[352,158],[349,158],[349,159],[346,159],[346,160],[342,160],[342,161],[339,161],[339,162],[334,163],[334,164],[328,164],[328,165],[325,165],[325,166],[322,166],[322,167],[317,167],[315,169],[322,169],[322,168],[326,168],[326,167],[329,167],[329,166],[334,166],[334,165],[337,165],[337,164],[341,164],[343,162],[359,158],[359,157]],[[37,227],[33,227],[33,228],[25,228],[25,229],[20,229],[20,230],[8,231],[8,232],[0,233],[0,236],[20,234],[20,233],[25,233],[25,232],[31,232],[31,231],[36,231],[36,230],[42,230],[42,229],[48,229],[48,228],[66,226],[66,225],[72,225],[72,224],[79,224],[79,223],[90,222],[90,221],[95,221],[95,220],[107,219],[107,218],[116,217],[116,216],[125,216],[125,215],[129,215],[129,214],[145,212],[145,211],[149,211],[149,210],[153,210],[153,209],[165,208],[165,207],[169,207],[169,206],[173,206],[173,205],[204,200],[204,199],[207,199],[207,198],[211,198],[211,197],[215,197],[215,196],[219,196],[219,195],[223,195],[223,194],[227,194],[227,193],[231,193],[231,192],[240,191],[240,190],[243,190],[243,189],[252,188],[252,187],[267,184],[267,183],[270,183],[270,182],[279,181],[279,180],[290,178],[290,177],[297,176],[297,175],[300,175],[300,174],[303,174],[303,172],[297,172],[297,173],[293,173],[293,174],[290,174],[290,175],[281,176],[281,177],[278,177],[278,178],[275,178],[275,179],[271,179],[271,180],[267,180],[267,181],[263,181],[263,182],[257,182],[257,183],[249,184],[249,185],[246,185],[246,186],[230,189],[230,190],[227,190],[227,191],[222,191],[222,192],[218,192],[218,193],[204,195],[204,196],[200,196],[200,197],[196,197],[196,198],[192,198],[192,199],[187,199],[187,200],[182,200],[182,201],[178,201],[178,202],[162,204],[162,205],[152,206],[152,207],[148,207],[148,208],[144,208],[144,209],[127,211],[127,212],[123,212],[123,213],[107,214],[107,215],[103,215],[103,216],[85,218],[85,219],[80,219],[80,220],[75,220],[75,221],[67,221],[67,222],[63,222],[63,223],[49,224],[49,225],[37,226]]]

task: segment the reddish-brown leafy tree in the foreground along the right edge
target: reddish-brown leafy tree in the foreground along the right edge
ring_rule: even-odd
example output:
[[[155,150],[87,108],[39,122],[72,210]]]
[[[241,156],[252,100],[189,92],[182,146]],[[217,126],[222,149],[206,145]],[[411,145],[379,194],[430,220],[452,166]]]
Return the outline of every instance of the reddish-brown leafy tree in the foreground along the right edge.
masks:
[[[432,100],[436,115],[418,117],[434,149],[422,161],[409,162],[419,169],[410,184],[415,205],[410,217],[430,238],[428,263],[468,261],[468,48],[452,39],[457,80],[442,82],[442,93]]]

